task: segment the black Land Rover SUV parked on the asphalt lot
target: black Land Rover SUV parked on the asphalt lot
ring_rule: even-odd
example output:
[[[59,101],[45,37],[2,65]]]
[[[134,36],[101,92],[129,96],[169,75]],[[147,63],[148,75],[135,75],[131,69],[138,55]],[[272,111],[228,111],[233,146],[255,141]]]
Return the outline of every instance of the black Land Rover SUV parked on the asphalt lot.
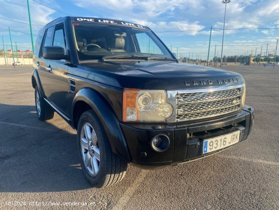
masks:
[[[127,163],[154,169],[223,151],[253,126],[240,74],[179,64],[147,26],[58,18],[40,30],[33,67],[38,118],[56,111],[77,130],[95,187],[121,181]]]

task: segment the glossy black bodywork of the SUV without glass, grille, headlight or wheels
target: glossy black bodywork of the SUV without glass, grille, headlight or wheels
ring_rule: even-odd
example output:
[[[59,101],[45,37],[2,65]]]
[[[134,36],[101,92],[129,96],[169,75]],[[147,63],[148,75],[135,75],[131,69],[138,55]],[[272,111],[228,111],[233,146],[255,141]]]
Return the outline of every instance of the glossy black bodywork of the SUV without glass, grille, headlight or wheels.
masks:
[[[74,17],[58,18],[41,29],[34,50],[32,74],[33,87],[39,87],[46,102],[73,128],[77,128],[77,107],[81,108],[79,104],[84,103],[100,119],[113,152],[144,168],[176,165],[201,158],[204,138],[235,130],[241,131],[240,141],[248,137],[254,118],[253,108],[249,106],[237,113],[198,122],[122,122],[124,88],[178,90],[239,85],[245,81],[238,73],[170,61],[118,59],[80,62],[74,44],[73,22]],[[40,50],[45,29],[60,23],[65,27],[68,60],[44,59]],[[146,26],[145,29],[150,30]],[[47,67],[52,70],[48,71]],[[69,79],[75,83],[72,90],[69,89]],[[155,152],[150,146],[151,138],[157,134],[165,134],[170,139],[168,149],[162,153]],[[147,156],[144,157],[143,153]]]

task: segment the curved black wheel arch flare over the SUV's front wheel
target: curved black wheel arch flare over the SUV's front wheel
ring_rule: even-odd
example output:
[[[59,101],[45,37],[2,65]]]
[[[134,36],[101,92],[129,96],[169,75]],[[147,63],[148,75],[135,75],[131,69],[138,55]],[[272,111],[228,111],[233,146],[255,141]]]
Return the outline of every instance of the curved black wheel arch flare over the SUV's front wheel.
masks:
[[[74,108],[78,101],[87,103],[97,114],[100,122],[107,133],[112,151],[127,162],[131,162],[128,147],[120,128],[120,124],[115,112],[109,106],[107,101],[91,88],[81,89],[75,96],[72,106],[71,118],[74,122]]]

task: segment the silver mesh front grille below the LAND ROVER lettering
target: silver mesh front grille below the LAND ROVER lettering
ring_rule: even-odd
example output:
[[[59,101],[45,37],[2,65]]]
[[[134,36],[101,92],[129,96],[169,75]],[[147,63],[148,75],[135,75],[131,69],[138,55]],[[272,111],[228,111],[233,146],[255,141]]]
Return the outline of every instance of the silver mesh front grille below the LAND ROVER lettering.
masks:
[[[169,91],[168,101],[176,107],[172,121],[183,122],[240,110],[243,85]]]

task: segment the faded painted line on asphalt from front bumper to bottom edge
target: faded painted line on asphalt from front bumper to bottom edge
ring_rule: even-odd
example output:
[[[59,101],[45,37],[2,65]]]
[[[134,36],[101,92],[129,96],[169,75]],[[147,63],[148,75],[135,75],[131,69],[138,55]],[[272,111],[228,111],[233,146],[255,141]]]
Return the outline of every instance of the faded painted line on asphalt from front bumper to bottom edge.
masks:
[[[124,209],[125,205],[128,203],[131,196],[133,196],[134,192],[137,190],[138,186],[141,185],[144,178],[147,175],[148,170],[142,170],[140,174],[137,175],[133,184],[131,184],[122,197],[118,200],[116,205],[113,207],[113,210],[121,210]]]

